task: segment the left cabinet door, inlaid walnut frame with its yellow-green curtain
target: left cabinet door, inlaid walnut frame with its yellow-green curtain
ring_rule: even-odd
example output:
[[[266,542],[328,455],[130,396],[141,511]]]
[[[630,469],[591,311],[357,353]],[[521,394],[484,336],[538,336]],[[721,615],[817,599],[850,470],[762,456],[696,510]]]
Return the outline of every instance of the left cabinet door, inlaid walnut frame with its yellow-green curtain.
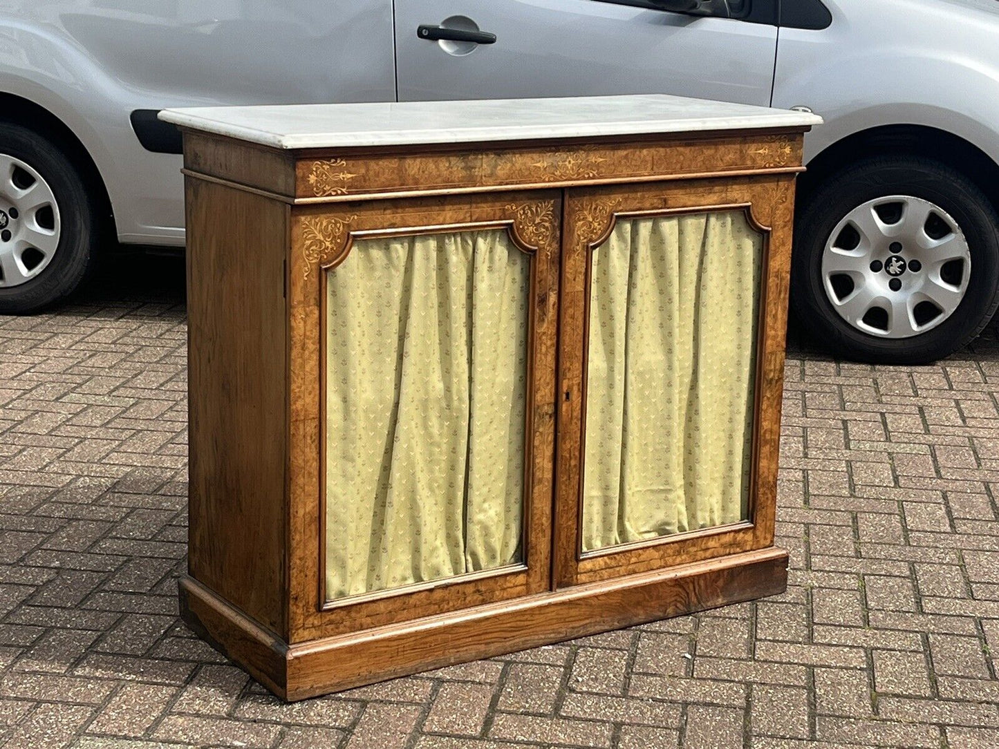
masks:
[[[548,588],[560,212],[293,209],[295,639]]]

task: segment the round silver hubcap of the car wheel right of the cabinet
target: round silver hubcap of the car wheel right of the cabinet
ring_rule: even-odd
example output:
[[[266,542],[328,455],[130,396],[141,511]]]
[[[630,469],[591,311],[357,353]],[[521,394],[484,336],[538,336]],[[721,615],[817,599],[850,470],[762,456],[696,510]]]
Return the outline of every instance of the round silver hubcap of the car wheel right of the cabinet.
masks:
[[[936,328],[961,304],[971,255],[957,222],[921,198],[893,195],[850,211],[822,253],[822,286],[859,331],[903,339]]]

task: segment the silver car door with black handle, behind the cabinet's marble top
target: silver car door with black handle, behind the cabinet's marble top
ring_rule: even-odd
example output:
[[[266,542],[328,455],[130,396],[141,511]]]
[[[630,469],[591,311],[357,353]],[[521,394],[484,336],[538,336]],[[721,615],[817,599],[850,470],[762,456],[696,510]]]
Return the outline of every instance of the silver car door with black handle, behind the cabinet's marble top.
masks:
[[[399,99],[666,93],[770,103],[774,0],[701,0],[738,18],[666,5],[683,2],[396,0]],[[436,38],[455,31],[487,36]]]

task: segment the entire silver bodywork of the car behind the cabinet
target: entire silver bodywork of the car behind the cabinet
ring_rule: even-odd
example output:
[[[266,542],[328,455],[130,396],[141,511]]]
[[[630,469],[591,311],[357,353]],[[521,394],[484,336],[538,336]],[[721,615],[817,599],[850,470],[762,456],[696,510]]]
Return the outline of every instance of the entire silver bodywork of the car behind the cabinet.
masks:
[[[789,2],[791,0],[783,0]],[[999,163],[999,3],[823,0],[828,28],[692,18],[605,0],[8,0],[0,92],[61,120],[104,179],[119,239],[183,243],[180,158],[137,109],[673,93],[807,106],[806,160],[883,125],[924,125]],[[418,39],[472,18],[472,54]],[[398,65],[397,65],[398,48]],[[772,84],[772,85],[771,85]],[[0,113],[2,115],[2,113]]]

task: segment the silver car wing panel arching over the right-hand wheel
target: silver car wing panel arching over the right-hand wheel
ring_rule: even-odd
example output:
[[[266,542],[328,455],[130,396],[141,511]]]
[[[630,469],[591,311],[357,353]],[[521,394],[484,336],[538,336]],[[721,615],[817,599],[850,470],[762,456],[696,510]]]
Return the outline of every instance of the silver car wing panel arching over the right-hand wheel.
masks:
[[[937,128],[999,163],[999,3],[824,2],[832,24],[782,28],[777,49],[772,106],[824,120],[805,138],[806,163],[885,125]]]

